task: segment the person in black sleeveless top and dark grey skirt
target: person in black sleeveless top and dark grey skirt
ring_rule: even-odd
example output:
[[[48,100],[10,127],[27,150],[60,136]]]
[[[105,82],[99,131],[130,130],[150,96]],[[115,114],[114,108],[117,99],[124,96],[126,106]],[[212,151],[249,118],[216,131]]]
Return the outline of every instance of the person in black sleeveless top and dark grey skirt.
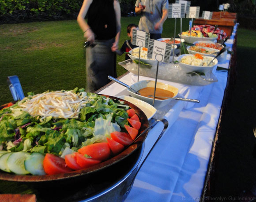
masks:
[[[119,1],[84,0],[77,22],[90,44],[86,49],[86,90],[94,92],[109,83],[108,75],[117,77],[115,51],[121,27]]]

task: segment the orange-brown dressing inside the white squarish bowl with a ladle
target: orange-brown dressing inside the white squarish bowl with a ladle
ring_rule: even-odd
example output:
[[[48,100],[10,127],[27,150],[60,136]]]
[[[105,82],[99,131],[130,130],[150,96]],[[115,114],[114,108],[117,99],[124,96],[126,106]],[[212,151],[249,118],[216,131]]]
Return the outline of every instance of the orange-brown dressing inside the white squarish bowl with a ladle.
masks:
[[[141,88],[139,90],[139,92],[141,93],[142,96],[144,97],[149,97],[149,98],[153,98],[154,97],[154,88],[152,87],[146,87],[146,88]],[[153,97],[150,97],[149,95],[153,95]],[[169,98],[172,98],[174,96],[174,93],[173,92],[170,92],[170,91],[167,91],[167,90],[164,90],[164,89],[161,89],[161,88],[156,88],[156,91],[155,91],[155,96],[156,98],[155,99],[161,99],[163,100],[162,98],[157,98],[158,96],[163,96],[163,97],[169,97]],[[164,98],[165,99],[165,98]],[[166,98],[167,99],[167,98]]]

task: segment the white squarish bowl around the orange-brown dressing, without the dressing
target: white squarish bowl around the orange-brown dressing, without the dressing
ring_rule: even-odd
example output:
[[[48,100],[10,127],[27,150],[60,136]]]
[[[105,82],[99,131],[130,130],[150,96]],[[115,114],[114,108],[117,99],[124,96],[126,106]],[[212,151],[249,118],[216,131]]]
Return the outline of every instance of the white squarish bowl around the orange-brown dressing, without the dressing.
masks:
[[[135,84],[132,84],[130,87],[135,89],[136,91],[139,91],[140,89],[142,88],[146,88],[146,87],[152,87],[154,88],[154,84],[155,84],[155,81],[150,81],[150,80],[143,80],[143,81],[139,81],[139,82],[136,82]],[[165,84],[165,83],[162,83],[162,82],[157,82],[156,84],[156,88],[162,88],[164,90],[167,90],[167,91],[170,91],[170,92],[173,92],[174,95],[173,97],[176,97],[178,92],[179,92],[179,88],[176,88],[174,86],[171,86],[169,84]],[[153,105],[153,98],[148,98],[148,97],[144,97],[142,95],[138,95],[132,91],[130,91],[129,89],[127,89],[128,92],[130,93],[130,95],[132,95],[132,97],[135,97],[137,99],[140,99],[140,100],[143,100],[144,102],[146,103],[149,103],[151,105]],[[164,100],[160,100],[160,99],[155,99],[154,100],[154,107],[156,109],[159,109],[161,107],[164,107],[165,105],[167,105],[172,99],[164,99]]]

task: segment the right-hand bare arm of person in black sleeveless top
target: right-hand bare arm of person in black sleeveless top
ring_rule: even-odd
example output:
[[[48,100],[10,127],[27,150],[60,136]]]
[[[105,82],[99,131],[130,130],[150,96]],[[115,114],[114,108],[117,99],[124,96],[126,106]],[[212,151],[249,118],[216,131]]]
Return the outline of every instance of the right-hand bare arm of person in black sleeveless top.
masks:
[[[114,0],[114,10],[115,10],[116,21],[117,21],[117,35],[115,37],[115,43],[113,43],[113,46],[111,47],[111,50],[113,52],[118,50],[118,43],[119,43],[119,38],[121,33],[121,9],[120,9],[120,4],[118,0]]]

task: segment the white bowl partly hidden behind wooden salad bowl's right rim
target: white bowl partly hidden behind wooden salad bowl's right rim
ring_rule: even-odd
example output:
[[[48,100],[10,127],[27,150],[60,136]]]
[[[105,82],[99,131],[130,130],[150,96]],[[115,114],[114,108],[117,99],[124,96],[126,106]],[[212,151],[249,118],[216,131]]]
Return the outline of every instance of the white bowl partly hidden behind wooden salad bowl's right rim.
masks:
[[[141,109],[144,112],[144,114],[146,114],[148,120],[150,120],[157,111],[156,108],[154,108],[149,103],[144,102],[143,100],[140,100],[140,99],[137,99],[134,97],[130,97],[127,95],[120,95],[120,96],[118,96],[118,98],[124,99],[124,100],[136,105],[137,107],[139,107],[139,109]]]

